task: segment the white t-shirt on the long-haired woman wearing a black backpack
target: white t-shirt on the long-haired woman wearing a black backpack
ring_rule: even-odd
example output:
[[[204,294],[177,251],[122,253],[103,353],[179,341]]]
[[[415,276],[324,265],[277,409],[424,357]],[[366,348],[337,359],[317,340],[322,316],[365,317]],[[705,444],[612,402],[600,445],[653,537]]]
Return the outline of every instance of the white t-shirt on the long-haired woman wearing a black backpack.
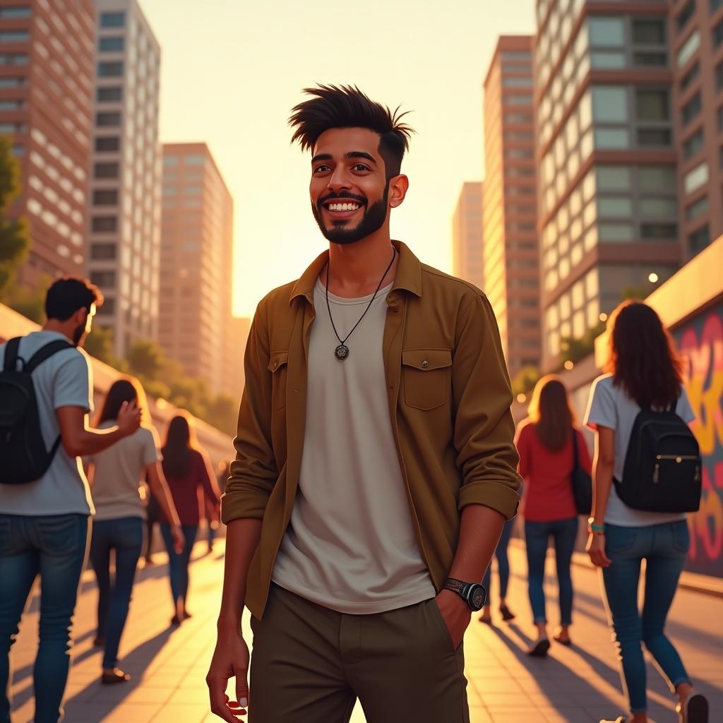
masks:
[[[640,405],[630,399],[622,386],[613,383],[610,374],[598,377],[590,390],[590,401],[585,414],[585,424],[591,429],[598,426],[615,429],[615,460],[613,461],[612,474],[617,480],[623,479],[625,467],[625,455],[628,453],[630,434],[633,432],[636,416],[638,416]],[[675,414],[683,419],[686,424],[693,421],[696,415],[690,407],[688,395],[683,387],[680,388],[680,397],[675,405]],[[615,485],[610,488],[610,497],[605,513],[605,522],[621,527],[641,527],[647,525],[658,525],[664,522],[676,522],[685,520],[685,513],[662,513],[645,512],[633,510],[620,500],[615,491]]]

